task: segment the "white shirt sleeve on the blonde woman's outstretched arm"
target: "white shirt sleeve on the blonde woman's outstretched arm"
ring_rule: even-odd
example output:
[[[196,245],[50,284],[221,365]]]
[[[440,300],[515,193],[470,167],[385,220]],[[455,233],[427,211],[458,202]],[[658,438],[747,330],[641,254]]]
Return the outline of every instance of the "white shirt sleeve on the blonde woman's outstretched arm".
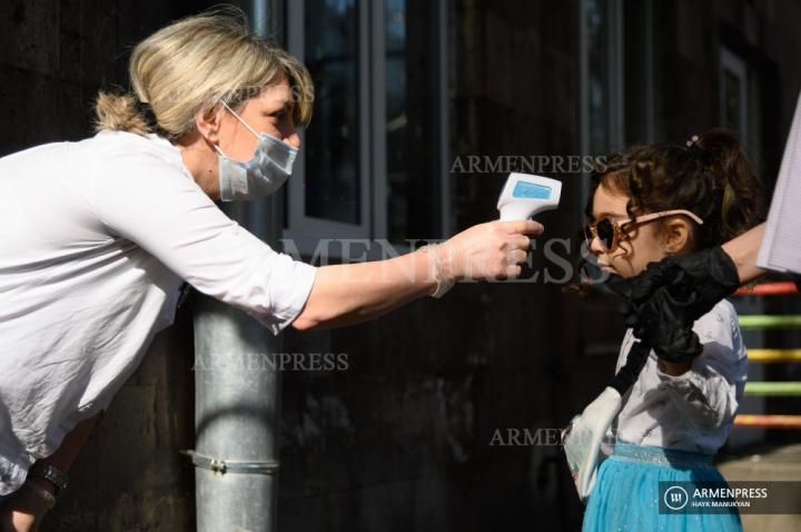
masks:
[[[100,221],[198,290],[246,311],[274,334],[303,311],[316,268],[276,253],[228,218],[181,169],[131,154],[95,174],[90,203]]]

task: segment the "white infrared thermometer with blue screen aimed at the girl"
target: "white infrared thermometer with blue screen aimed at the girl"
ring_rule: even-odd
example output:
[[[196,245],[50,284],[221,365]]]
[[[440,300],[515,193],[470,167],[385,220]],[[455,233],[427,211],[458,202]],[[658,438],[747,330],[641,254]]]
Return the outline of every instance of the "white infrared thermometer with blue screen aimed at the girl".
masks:
[[[543,210],[558,207],[562,183],[532,174],[510,174],[498,210],[502,221],[525,220]]]

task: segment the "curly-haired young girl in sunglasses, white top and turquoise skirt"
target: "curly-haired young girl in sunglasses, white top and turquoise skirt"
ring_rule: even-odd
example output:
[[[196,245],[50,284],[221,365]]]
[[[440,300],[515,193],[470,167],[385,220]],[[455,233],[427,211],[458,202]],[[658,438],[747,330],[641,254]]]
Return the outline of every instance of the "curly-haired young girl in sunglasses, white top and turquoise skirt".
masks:
[[[756,224],[759,183],[736,139],[713,130],[686,146],[636,147],[593,175],[587,245],[599,267],[632,277],[649,263],[720,245]],[[703,352],[670,363],[651,352],[612,425],[613,454],[599,469],[584,531],[742,530],[730,513],[660,514],[660,482],[715,481],[712,456],[731,430],[746,378],[732,305],[695,323]],[[617,370],[635,342],[623,338]],[[664,486],[664,485],[663,485]]]

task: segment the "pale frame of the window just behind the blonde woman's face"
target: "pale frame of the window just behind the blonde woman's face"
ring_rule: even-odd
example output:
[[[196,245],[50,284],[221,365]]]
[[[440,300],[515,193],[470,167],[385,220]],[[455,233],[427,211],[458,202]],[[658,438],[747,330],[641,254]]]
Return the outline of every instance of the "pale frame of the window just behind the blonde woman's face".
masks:
[[[287,50],[304,60],[305,0],[287,0],[285,3]],[[441,185],[441,227],[444,237],[452,233],[451,223],[451,181],[447,157],[448,139],[448,73],[447,73],[447,0],[432,2],[437,9],[438,47],[436,60],[437,106],[436,138],[438,176]],[[358,179],[359,179],[359,219],[360,224],[307,216],[305,213],[305,150],[301,148],[295,161],[294,176],[288,180],[287,226],[284,240],[291,240],[301,256],[319,257],[323,264],[328,260],[348,259],[343,256],[340,246],[320,246],[324,240],[365,240],[369,242],[365,257],[382,258],[385,246],[376,240],[387,238],[387,164],[386,164],[386,104],[385,104],[385,20],[384,2],[356,0],[358,12]],[[301,146],[305,144],[304,128],[298,128]],[[286,244],[285,244],[286,246]],[[408,253],[411,246],[393,244],[399,254]]]

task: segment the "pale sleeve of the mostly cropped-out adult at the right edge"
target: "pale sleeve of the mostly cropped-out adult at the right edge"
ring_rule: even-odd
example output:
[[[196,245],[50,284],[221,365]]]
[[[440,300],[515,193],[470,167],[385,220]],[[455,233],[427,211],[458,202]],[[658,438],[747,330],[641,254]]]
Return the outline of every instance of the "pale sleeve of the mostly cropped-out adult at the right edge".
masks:
[[[801,274],[801,97],[784,146],[756,265]]]

